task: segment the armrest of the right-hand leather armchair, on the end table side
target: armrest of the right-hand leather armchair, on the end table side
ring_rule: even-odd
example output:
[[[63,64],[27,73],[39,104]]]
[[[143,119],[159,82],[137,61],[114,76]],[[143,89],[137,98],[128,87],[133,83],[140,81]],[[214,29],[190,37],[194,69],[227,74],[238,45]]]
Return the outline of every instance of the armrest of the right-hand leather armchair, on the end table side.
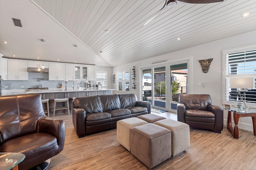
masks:
[[[215,114],[214,130],[223,130],[223,108],[216,105],[208,105],[207,110]]]

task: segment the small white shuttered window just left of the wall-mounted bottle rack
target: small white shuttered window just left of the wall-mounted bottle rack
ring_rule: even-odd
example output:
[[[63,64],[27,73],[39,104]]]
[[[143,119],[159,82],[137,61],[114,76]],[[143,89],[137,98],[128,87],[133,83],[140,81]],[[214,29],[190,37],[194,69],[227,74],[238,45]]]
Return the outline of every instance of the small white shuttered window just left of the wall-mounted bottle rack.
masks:
[[[119,71],[117,75],[117,89],[118,91],[130,91],[130,70]]]

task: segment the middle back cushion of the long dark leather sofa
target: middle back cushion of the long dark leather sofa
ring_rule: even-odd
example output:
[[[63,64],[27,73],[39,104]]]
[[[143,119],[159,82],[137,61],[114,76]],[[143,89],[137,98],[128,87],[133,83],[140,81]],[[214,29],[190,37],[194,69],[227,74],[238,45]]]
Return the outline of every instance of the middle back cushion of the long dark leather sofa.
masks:
[[[117,94],[110,94],[110,95],[102,95],[100,96],[103,111],[113,110],[113,109],[120,109],[121,103],[119,100],[119,96]]]

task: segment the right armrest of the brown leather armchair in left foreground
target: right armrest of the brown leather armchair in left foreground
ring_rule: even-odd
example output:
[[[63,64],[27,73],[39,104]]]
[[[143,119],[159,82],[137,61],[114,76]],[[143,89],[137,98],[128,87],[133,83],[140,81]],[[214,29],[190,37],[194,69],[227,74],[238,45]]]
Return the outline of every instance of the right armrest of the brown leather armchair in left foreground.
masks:
[[[57,138],[59,146],[58,153],[63,150],[65,142],[65,123],[60,119],[40,119],[38,121],[38,132],[48,133]]]

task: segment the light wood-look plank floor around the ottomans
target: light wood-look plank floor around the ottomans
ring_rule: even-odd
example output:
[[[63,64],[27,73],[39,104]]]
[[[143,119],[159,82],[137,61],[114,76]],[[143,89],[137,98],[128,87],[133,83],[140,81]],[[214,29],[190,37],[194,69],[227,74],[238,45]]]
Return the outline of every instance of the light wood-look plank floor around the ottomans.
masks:
[[[155,114],[177,120],[170,112]],[[66,139],[64,150],[51,158],[48,170],[148,169],[116,141],[116,129],[78,138],[72,115],[56,115],[55,119],[65,121]],[[153,169],[256,170],[256,136],[239,129],[239,139],[234,139],[226,126],[221,134],[190,128],[190,148]]]

